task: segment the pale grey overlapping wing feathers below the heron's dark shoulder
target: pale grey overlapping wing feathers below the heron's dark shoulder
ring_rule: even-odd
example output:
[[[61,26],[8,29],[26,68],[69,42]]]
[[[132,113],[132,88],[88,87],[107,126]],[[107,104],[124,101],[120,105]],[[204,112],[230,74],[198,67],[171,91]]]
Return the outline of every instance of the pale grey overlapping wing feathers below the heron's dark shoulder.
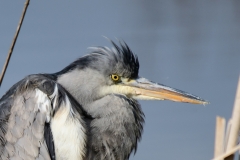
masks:
[[[28,86],[22,90],[21,87],[1,100],[0,159],[50,160],[44,126],[51,112],[51,101],[38,88]]]

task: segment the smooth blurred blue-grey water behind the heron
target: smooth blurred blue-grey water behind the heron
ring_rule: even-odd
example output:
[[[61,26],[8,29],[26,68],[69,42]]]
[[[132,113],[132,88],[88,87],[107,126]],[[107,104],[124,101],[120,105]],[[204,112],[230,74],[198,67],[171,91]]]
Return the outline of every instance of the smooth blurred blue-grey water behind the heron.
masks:
[[[0,69],[25,0],[0,2]],[[192,105],[141,101],[146,123],[132,160],[207,160],[215,119],[232,114],[240,74],[239,0],[31,1],[0,88],[33,73],[53,73],[124,40],[140,60],[140,75],[208,101]]]

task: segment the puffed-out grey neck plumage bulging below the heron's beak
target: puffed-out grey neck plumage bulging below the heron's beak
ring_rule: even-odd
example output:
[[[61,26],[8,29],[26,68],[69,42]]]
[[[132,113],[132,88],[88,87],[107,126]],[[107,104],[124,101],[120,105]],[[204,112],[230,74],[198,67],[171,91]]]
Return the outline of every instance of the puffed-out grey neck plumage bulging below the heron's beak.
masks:
[[[106,159],[128,159],[140,141],[144,115],[137,101],[110,94],[85,106],[93,117],[87,142],[87,159],[95,155]],[[114,151],[114,154],[106,152]],[[114,156],[114,157],[113,157]]]

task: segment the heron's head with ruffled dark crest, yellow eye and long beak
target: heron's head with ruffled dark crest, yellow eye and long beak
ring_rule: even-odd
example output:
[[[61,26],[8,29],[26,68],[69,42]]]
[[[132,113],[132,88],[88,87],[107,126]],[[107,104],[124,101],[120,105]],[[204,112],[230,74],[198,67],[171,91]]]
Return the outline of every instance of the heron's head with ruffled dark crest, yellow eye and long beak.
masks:
[[[198,96],[151,82],[138,75],[138,58],[126,43],[113,48],[93,47],[92,52],[56,73],[62,84],[81,104],[109,94],[133,99],[171,100],[207,104]]]

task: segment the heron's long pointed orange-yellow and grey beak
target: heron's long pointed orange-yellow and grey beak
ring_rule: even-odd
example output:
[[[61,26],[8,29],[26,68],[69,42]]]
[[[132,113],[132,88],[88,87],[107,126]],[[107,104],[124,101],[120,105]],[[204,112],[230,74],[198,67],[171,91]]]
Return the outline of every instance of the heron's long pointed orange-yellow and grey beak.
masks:
[[[165,85],[153,83],[145,78],[137,78],[124,84],[131,87],[132,97],[135,99],[171,100],[193,104],[208,104],[207,101],[198,96]]]

